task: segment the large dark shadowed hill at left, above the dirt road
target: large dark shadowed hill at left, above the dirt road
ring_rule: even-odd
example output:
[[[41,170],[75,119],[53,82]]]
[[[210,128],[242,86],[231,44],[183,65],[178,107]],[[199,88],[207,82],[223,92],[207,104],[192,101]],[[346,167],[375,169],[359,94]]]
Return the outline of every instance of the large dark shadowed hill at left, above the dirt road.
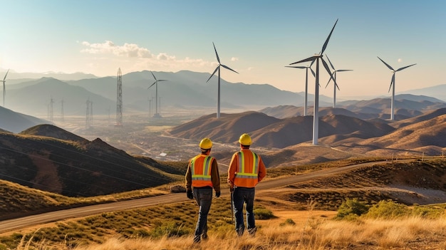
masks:
[[[130,156],[99,138],[88,141],[52,125],[20,134],[0,132],[0,148],[0,179],[70,197],[155,187],[184,178],[180,170],[167,174],[155,160]]]

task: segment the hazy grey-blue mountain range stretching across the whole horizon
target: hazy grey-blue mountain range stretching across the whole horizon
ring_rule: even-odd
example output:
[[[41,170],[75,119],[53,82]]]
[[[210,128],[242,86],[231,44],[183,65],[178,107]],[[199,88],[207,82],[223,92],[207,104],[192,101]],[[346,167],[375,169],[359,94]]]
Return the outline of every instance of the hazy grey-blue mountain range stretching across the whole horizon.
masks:
[[[158,85],[159,104],[162,110],[199,110],[213,108],[217,103],[217,78],[211,78],[209,73],[197,73],[192,71],[153,72],[157,79],[166,80]],[[95,115],[107,115],[115,112],[117,100],[116,77],[98,78],[94,75],[82,75],[76,73],[68,77],[67,74],[47,73],[43,78],[31,79],[36,75],[24,75],[22,79],[10,79],[6,82],[6,107],[19,113],[45,117],[48,114],[51,100],[53,100],[53,113],[59,115],[62,110],[64,115],[85,115],[86,102],[93,102]],[[62,80],[58,80],[58,77]],[[64,80],[66,79],[66,80]],[[72,80],[74,79],[74,80]],[[155,107],[155,86],[149,88],[155,82],[150,71],[127,73],[122,76],[123,83],[123,112],[149,113]],[[10,83],[10,84],[8,84]],[[293,93],[279,90],[269,84],[245,84],[229,83],[222,79],[221,83],[222,108],[228,110],[260,110],[267,107],[280,105],[304,105],[304,93]],[[149,88],[149,89],[147,89]],[[436,91],[433,91],[435,89]],[[446,92],[446,84],[429,88],[430,96],[418,95],[420,100],[432,103],[444,103],[436,99],[442,96],[439,93]],[[1,91],[0,91],[1,92]],[[422,93],[422,90],[418,90]],[[437,94],[435,94],[437,93]],[[407,95],[408,96],[408,95]],[[412,97],[415,95],[412,95]],[[408,97],[402,97],[410,100]],[[382,98],[388,100],[388,98]],[[313,95],[308,95],[308,105],[312,105]],[[320,96],[320,106],[331,106],[331,98]],[[420,102],[420,100],[413,100]],[[338,100],[340,108],[346,106],[367,106],[373,111],[373,106],[361,104],[366,100]],[[63,104],[62,104],[63,103]],[[388,101],[390,105],[390,101]],[[396,106],[400,105],[398,102]],[[378,107],[379,108],[379,107]],[[350,108],[347,108],[350,110]],[[432,107],[433,109],[433,107]],[[358,110],[354,110],[359,112]],[[377,112],[376,110],[374,112]],[[364,113],[370,113],[365,110]]]

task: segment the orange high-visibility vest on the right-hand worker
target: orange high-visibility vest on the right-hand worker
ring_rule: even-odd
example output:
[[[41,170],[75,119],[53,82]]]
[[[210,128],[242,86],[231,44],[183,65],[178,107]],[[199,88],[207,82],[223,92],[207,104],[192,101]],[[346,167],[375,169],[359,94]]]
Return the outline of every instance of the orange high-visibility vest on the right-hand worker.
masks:
[[[259,155],[250,153],[238,152],[238,170],[234,179],[237,187],[255,187],[259,182]]]

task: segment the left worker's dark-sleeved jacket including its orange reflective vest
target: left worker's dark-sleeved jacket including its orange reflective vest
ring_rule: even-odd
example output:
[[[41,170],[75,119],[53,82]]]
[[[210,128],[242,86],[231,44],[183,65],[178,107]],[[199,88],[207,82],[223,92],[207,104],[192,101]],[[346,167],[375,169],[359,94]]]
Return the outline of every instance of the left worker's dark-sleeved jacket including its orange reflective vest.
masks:
[[[209,155],[197,155],[189,161],[186,172],[186,189],[192,187],[214,187],[220,191],[217,160]]]

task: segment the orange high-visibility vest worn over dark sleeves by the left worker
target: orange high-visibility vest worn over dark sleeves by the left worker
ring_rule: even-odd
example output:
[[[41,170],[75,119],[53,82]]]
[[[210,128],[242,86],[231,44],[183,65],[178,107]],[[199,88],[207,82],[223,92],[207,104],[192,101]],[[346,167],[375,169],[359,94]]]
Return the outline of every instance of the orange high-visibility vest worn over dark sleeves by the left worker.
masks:
[[[197,155],[190,160],[192,187],[212,187],[212,160],[214,160],[214,157],[209,155]]]

